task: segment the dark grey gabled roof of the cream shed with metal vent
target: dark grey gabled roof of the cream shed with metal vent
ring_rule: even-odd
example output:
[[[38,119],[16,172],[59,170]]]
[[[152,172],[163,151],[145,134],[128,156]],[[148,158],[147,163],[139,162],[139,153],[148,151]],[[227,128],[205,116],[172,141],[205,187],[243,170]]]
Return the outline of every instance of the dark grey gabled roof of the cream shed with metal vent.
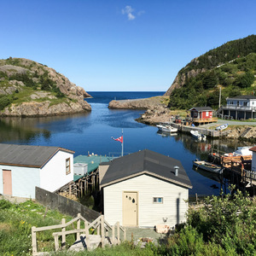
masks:
[[[174,166],[179,166],[177,176],[174,173]],[[113,160],[102,178],[101,186],[105,187],[142,174],[192,188],[189,177],[179,160],[148,149]]]

